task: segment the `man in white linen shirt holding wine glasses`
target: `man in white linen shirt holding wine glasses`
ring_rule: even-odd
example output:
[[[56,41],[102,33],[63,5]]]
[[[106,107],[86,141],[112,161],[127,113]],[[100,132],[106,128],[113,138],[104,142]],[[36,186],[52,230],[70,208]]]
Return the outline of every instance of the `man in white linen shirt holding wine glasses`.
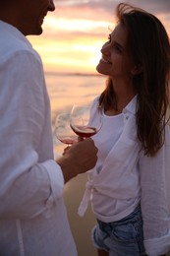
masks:
[[[63,187],[94,166],[97,150],[88,139],[53,160],[43,68],[26,38],[54,10],[52,0],[0,1],[1,256],[77,255]]]

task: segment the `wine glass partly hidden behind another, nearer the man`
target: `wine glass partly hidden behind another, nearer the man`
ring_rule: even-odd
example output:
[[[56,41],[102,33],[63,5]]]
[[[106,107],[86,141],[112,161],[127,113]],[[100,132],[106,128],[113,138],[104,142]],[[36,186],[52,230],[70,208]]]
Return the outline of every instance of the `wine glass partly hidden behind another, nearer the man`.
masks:
[[[70,126],[70,113],[61,113],[55,120],[54,135],[56,138],[68,146],[78,142],[78,136]]]

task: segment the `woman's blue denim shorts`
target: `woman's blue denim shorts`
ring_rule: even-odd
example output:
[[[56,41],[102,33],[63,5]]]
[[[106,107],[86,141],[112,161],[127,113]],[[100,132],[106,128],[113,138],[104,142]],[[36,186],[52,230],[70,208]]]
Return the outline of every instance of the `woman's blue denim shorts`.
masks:
[[[106,224],[97,220],[92,240],[96,248],[109,252],[110,256],[146,256],[141,207],[118,222]]]

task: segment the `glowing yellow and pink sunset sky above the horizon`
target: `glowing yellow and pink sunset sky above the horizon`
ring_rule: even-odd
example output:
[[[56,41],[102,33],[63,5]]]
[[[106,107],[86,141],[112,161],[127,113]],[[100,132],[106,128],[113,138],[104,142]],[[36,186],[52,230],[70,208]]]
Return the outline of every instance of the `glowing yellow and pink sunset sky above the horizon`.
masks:
[[[170,34],[170,0],[129,0],[156,15]],[[100,48],[114,28],[117,0],[55,0],[43,33],[28,36],[40,54],[45,71],[96,73]],[[151,38],[150,38],[151,39]]]

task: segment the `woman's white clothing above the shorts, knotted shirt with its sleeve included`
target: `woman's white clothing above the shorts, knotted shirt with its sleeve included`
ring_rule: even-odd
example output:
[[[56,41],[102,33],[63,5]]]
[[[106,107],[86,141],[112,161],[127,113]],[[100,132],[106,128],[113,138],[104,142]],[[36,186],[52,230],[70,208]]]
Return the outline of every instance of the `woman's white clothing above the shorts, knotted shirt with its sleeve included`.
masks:
[[[92,118],[97,118],[98,100]],[[85,196],[79,208],[83,216],[88,200],[96,219],[119,221],[141,202],[144,245],[147,255],[170,249],[170,130],[165,144],[153,158],[141,151],[136,128],[137,96],[117,116],[103,114],[103,126],[93,136],[98,148],[95,168],[88,172]]]

